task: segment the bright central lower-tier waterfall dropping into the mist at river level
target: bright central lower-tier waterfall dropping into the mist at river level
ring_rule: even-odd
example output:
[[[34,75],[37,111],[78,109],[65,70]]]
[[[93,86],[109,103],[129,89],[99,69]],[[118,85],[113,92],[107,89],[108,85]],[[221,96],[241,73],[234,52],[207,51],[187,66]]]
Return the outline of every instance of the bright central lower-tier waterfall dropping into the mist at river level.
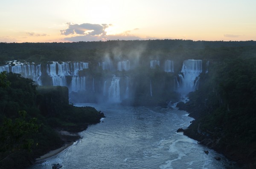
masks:
[[[111,86],[108,88],[108,100],[110,102],[119,103],[120,102],[120,86],[119,77],[113,76],[111,81]]]

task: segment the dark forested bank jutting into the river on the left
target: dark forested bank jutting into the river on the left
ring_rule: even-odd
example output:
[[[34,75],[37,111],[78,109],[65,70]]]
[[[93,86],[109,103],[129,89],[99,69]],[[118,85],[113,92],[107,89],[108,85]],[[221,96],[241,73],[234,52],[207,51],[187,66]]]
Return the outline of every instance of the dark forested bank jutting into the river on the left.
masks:
[[[0,168],[24,168],[64,143],[55,129],[78,132],[104,116],[74,107],[67,87],[37,89],[31,79],[0,73]]]

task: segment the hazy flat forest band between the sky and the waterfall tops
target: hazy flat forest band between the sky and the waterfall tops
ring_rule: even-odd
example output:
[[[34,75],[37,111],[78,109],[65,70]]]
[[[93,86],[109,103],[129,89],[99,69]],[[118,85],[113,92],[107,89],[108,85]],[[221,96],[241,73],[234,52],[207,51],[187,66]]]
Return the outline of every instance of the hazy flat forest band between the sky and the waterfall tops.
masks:
[[[25,42],[0,43],[0,65],[9,60],[26,62],[84,61],[96,64],[100,60],[131,59],[223,59],[256,53],[256,41],[192,41],[164,40],[109,40],[93,42]],[[251,54],[244,54],[250,56]]]

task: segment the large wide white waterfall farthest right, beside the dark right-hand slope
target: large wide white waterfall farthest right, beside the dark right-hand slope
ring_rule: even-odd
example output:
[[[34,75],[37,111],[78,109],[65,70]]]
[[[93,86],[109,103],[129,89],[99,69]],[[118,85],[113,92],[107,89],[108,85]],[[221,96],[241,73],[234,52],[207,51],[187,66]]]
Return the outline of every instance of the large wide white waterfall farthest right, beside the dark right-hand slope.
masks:
[[[183,62],[180,77],[180,88],[178,89],[183,95],[197,89],[199,85],[199,75],[202,72],[202,60],[185,60]]]

